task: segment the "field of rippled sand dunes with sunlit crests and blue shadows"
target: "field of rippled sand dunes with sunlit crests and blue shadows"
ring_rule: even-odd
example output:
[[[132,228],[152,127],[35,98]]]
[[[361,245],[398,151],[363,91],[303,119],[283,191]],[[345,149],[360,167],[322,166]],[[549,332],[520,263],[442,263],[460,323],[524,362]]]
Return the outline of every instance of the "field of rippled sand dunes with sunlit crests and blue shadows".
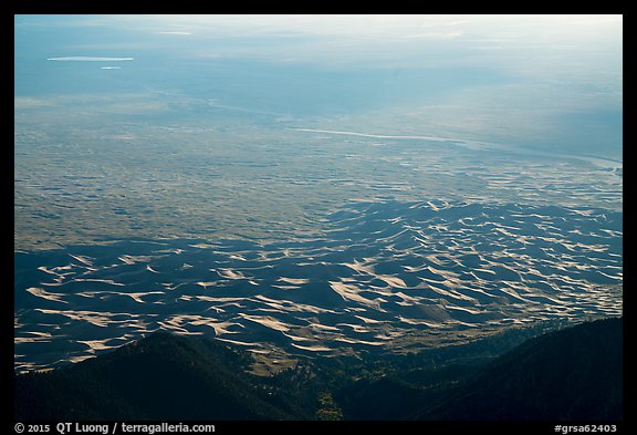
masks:
[[[255,353],[404,352],[552,318],[622,313],[622,214],[383,203],[286,244],[118,241],[15,253],[15,367],[155,330]]]

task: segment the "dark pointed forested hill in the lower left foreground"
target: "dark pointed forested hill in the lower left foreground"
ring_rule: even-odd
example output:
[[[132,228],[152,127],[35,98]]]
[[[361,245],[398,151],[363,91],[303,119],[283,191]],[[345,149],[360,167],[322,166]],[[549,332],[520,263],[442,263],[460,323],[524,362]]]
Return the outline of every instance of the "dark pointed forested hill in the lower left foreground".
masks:
[[[17,377],[15,418],[286,420],[217,342],[155,333],[75,366]]]

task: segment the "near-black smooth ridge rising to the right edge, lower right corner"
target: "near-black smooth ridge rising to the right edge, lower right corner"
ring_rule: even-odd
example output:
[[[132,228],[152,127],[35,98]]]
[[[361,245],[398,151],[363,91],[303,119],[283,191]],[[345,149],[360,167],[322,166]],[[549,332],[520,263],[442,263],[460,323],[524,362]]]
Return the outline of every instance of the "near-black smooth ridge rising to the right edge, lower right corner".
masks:
[[[607,319],[532,339],[419,417],[622,420],[622,327]]]

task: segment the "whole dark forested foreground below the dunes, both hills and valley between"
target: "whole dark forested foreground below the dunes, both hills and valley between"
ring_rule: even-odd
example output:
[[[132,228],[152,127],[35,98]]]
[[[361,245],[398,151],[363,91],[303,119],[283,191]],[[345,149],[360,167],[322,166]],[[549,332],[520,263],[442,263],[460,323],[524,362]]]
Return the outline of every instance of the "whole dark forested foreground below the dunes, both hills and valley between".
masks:
[[[443,353],[439,353],[438,356]],[[35,420],[618,421],[623,320],[549,332],[494,359],[436,364],[304,358],[274,375],[237,345],[165,332],[91,360],[15,375],[14,417]],[[429,359],[429,360],[428,360]],[[375,367],[375,369],[374,369]]]

